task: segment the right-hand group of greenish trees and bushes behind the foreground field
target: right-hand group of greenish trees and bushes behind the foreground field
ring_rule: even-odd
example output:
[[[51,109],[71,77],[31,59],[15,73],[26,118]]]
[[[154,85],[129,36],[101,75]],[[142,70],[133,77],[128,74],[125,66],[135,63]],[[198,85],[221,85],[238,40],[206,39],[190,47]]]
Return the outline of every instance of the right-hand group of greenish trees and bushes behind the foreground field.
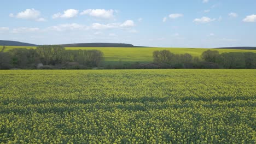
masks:
[[[154,63],[166,68],[225,68],[225,69],[255,69],[256,53],[225,52],[216,50],[202,52],[200,57],[189,53],[174,54],[168,50],[154,51]]]

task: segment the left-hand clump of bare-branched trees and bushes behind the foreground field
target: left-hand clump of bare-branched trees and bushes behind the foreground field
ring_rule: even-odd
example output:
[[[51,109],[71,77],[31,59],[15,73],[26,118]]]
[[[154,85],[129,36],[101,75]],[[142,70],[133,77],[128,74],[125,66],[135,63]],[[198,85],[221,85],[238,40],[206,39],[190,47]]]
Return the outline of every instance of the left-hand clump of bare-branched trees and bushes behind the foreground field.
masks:
[[[0,69],[90,69],[99,67],[102,61],[101,51],[65,50],[60,45],[0,52]]]

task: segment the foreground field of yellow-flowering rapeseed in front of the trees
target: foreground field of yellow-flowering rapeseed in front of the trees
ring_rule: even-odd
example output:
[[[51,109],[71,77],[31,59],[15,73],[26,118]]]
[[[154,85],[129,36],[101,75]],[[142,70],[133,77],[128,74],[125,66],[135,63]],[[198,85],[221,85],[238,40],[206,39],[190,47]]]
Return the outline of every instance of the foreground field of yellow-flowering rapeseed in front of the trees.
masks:
[[[1,70],[0,143],[255,143],[255,70]]]

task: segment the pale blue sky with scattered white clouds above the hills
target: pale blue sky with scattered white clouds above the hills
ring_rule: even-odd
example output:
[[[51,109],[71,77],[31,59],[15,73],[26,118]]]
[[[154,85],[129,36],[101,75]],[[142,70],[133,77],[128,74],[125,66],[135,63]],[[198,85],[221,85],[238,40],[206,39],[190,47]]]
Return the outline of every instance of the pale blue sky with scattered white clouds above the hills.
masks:
[[[255,0],[2,0],[0,12],[1,40],[256,46]]]

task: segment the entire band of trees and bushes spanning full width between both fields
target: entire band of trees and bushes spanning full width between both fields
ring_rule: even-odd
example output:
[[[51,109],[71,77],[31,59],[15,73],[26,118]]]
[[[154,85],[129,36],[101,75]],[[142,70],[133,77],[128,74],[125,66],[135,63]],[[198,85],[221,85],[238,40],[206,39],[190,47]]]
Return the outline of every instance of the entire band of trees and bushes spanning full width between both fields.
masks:
[[[207,50],[201,57],[169,50],[154,51],[153,62],[104,65],[98,50],[65,50],[60,45],[43,45],[36,49],[11,49],[0,52],[0,69],[255,69],[256,53]]]

